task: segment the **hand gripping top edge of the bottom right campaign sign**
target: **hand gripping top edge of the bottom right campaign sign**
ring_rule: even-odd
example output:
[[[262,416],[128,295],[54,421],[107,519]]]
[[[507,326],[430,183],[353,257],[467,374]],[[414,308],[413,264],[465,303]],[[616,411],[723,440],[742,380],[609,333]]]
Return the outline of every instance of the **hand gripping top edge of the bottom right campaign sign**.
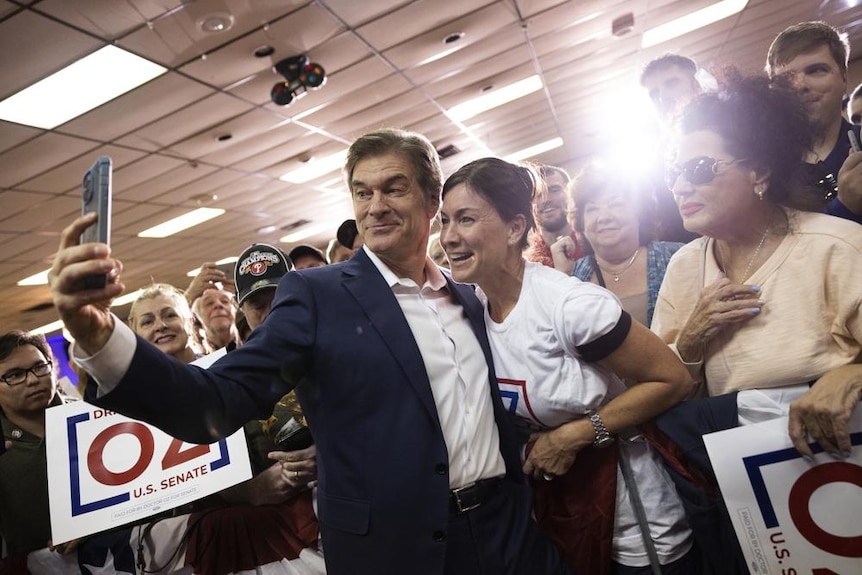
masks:
[[[862,365],[827,372],[805,395],[790,404],[787,430],[796,450],[811,458],[808,437],[834,455],[850,454],[847,423],[862,398]]]

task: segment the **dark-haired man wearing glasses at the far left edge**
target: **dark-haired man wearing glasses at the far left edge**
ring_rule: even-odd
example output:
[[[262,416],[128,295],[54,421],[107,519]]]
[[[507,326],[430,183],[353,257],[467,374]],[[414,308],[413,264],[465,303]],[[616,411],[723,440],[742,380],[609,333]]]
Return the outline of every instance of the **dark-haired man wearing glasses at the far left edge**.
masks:
[[[51,538],[45,410],[63,403],[51,348],[41,335],[0,336],[0,536],[10,555],[41,549]]]

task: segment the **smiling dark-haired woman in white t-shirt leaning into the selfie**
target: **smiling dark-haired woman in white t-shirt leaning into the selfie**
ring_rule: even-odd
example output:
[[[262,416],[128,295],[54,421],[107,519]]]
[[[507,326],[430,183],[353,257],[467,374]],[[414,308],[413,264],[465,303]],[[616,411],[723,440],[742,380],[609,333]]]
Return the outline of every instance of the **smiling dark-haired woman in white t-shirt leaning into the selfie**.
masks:
[[[532,434],[524,471],[537,519],[576,572],[648,574],[653,562],[699,573],[681,503],[635,428],[681,401],[691,379],[613,294],[524,260],[537,182],[496,158],[467,164],[443,187],[441,233],[454,279],[479,286],[501,394]]]

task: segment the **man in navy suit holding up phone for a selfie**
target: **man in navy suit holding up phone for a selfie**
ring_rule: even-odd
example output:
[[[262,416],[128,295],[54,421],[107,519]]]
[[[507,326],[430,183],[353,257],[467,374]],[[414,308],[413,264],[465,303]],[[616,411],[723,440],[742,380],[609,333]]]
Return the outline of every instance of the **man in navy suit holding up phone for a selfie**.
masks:
[[[353,143],[344,171],[365,247],[284,276],[264,323],[207,371],[110,314],[121,264],[107,246],[76,245],[92,216],[64,230],[51,288],[99,405],[208,443],[296,388],[331,575],[567,573],[530,518],[482,307],[425,254],[442,188],[434,147],[380,130]],[[106,272],[107,287],[78,291]]]

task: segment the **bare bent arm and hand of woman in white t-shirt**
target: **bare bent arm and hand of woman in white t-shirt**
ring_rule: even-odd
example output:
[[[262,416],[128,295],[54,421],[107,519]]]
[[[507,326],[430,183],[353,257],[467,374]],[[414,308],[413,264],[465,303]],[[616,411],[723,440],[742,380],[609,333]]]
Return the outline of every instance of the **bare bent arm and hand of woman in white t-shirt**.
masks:
[[[652,419],[682,401],[692,390],[692,379],[679,358],[658,336],[635,321],[622,344],[597,363],[635,382],[598,410],[612,434]],[[538,434],[524,472],[562,475],[571,467],[577,452],[591,445],[595,438],[588,418]]]

